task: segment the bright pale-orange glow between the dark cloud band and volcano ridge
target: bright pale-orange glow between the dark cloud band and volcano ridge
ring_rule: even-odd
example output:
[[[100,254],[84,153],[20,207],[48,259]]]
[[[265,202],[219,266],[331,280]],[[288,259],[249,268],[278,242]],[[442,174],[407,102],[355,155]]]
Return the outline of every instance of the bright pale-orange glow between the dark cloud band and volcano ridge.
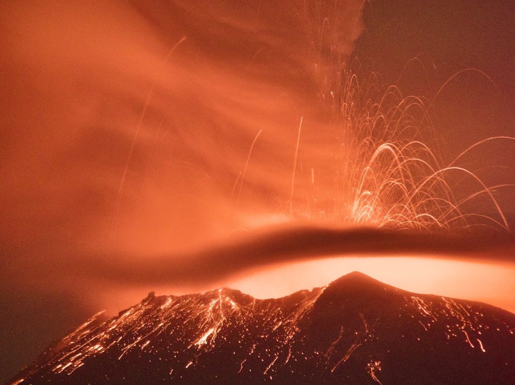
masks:
[[[110,286],[93,299],[108,314],[156,295],[183,295],[218,287],[241,290],[255,298],[280,298],[303,289],[322,287],[352,271],[361,271],[392,286],[419,294],[434,294],[488,303],[515,313],[515,263],[459,261],[427,256],[346,256],[272,265],[253,269],[214,285],[144,287]]]

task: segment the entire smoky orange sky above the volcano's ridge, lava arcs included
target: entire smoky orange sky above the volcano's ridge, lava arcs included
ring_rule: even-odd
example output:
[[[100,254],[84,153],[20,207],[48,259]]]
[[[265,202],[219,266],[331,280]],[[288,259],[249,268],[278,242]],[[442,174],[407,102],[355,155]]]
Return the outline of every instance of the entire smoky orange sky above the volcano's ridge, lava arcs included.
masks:
[[[359,270],[515,310],[501,4],[4,3],[0,381],[148,291]]]

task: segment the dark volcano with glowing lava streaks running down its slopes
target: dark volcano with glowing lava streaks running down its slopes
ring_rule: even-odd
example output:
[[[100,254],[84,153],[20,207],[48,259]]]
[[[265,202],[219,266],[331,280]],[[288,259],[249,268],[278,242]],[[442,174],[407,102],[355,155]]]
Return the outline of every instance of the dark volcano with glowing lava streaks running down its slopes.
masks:
[[[515,314],[353,272],[279,299],[155,296],[50,347],[12,384],[509,384]]]

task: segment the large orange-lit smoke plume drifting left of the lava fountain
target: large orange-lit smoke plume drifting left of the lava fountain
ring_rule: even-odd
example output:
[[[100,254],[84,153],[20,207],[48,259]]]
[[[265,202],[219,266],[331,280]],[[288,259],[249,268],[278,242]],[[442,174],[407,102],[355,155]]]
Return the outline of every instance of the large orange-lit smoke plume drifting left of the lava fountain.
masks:
[[[314,56],[361,31],[360,6],[333,7],[6,4],[3,244],[188,248],[286,200]]]

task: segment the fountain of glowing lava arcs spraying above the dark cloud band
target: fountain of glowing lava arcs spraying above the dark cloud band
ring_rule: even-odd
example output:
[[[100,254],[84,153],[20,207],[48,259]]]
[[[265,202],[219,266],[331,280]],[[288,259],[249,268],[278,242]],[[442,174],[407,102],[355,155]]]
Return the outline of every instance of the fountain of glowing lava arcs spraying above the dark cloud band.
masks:
[[[397,86],[385,86],[375,72],[367,76],[358,59],[340,52],[338,13],[323,14],[323,9],[322,3],[315,2],[303,13],[305,25],[311,28],[305,60],[315,79],[317,117],[300,117],[292,143],[289,199],[280,191],[269,193],[271,214],[335,226],[508,230],[495,193],[513,185],[487,185],[459,161],[484,143],[515,138],[486,138],[445,164],[437,151],[442,137],[433,127],[432,107],[447,83],[428,101],[403,96]],[[466,71],[488,78],[474,69],[455,76]],[[260,130],[250,146],[234,186],[239,188],[238,202],[256,141],[266,135]],[[476,205],[471,204],[474,200]],[[478,211],[478,206],[484,210]]]

